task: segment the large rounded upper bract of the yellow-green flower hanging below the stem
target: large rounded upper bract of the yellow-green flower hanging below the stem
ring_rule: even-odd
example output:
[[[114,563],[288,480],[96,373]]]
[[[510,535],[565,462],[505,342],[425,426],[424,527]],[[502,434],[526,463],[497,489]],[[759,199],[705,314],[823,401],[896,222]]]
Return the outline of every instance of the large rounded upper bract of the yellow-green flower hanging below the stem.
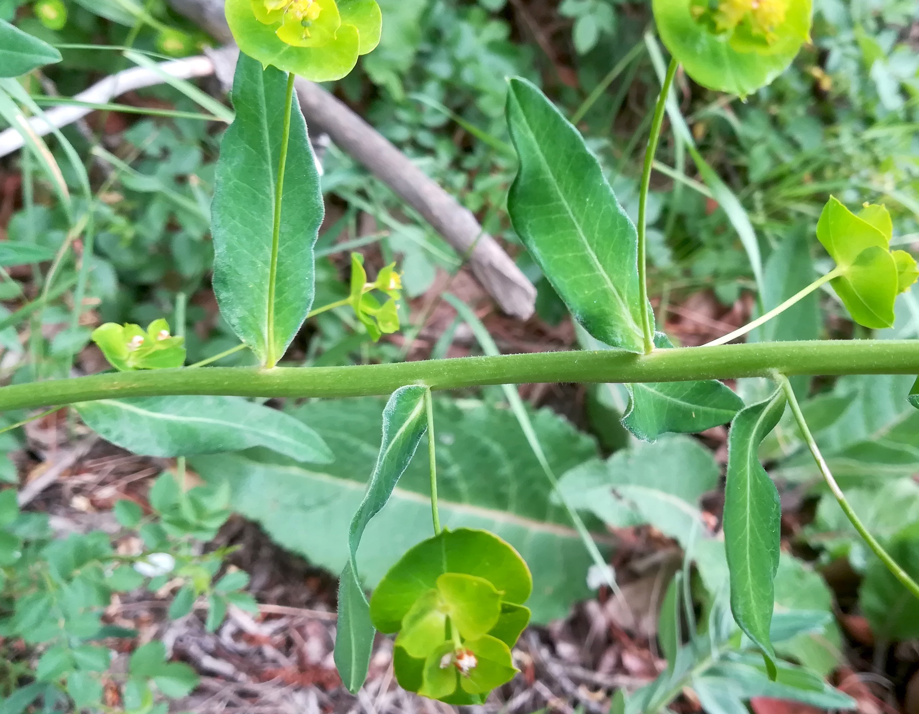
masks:
[[[445,573],[473,575],[491,583],[505,602],[522,605],[533,587],[527,563],[487,530],[443,530],[406,552],[370,599],[370,618],[381,632],[396,632],[414,602],[437,589]],[[494,626],[494,625],[493,625]]]

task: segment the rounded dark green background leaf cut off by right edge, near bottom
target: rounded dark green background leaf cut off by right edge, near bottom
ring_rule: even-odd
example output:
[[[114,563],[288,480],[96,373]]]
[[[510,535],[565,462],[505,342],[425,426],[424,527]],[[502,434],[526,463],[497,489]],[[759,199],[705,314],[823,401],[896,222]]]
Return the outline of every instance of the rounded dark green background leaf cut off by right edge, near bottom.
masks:
[[[913,579],[919,578],[919,525],[910,524],[886,544],[891,558]],[[883,641],[919,637],[919,600],[893,576],[879,558],[871,556],[858,603],[871,623],[875,637]]]

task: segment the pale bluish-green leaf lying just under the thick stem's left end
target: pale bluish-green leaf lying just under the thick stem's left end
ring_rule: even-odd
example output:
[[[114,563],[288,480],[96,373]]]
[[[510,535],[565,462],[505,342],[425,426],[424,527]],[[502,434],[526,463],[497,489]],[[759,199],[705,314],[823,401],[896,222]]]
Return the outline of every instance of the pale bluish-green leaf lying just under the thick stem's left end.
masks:
[[[80,402],[86,426],[106,441],[145,456],[239,452],[265,446],[307,463],[332,452],[315,431],[278,409],[240,396],[141,396]]]

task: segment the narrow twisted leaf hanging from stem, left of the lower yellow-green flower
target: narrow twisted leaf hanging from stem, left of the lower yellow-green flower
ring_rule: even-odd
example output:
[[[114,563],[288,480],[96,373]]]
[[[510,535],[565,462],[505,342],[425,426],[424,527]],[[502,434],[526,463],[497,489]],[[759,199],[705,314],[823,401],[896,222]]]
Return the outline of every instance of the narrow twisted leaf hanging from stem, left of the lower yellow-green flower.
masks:
[[[377,464],[370,475],[367,493],[348,529],[348,562],[338,591],[338,630],[335,636],[335,665],[351,692],[357,692],[370,663],[373,625],[370,609],[357,579],[357,546],[364,530],[392,495],[427,430],[424,386],[403,386],[393,392],[383,409],[383,440]]]

